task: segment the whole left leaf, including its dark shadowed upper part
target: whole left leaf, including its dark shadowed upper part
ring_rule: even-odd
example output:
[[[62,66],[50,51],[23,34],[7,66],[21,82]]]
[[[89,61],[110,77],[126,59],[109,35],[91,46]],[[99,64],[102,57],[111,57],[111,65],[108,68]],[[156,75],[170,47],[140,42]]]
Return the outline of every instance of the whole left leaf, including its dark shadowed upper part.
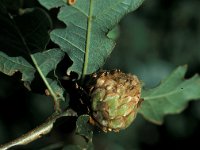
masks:
[[[0,4],[5,6],[2,2]],[[34,8],[11,16],[4,8],[0,12],[0,71],[10,76],[19,71],[26,83],[31,83],[37,71],[54,100],[64,99],[64,90],[54,73],[64,52],[60,49],[44,51],[51,28],[48,14]],[[49,75],[51,72],[53,77]]]

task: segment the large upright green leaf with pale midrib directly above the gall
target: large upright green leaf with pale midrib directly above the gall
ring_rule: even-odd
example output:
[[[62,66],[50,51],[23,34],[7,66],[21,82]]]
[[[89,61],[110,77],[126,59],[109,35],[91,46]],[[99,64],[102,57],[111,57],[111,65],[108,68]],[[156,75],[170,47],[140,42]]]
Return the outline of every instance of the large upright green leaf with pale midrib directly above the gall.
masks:
[[[61,4],[61,0],[39,2],[47,8],[62,5],[58,18],[67,28],[53,30],[51,39],[73,60],[68,72],[84,77],[102,67],[113,50],[115,42],[108,38],[108,32],[143,0],[77,0],[71,6]]]

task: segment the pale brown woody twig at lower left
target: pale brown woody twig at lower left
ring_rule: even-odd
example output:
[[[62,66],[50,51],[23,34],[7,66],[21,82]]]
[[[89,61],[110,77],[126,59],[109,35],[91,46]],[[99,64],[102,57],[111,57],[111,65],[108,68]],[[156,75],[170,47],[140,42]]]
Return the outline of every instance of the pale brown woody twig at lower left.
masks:
[[[55,121],[63,116],[77,116],[77,114],[72,109],[68,109],[60,114],[55,113],[51,117],[49,117],[46,122],[36,127],[35,129],[29,131],[28,133],[18,137],[11,142],[0,145],[0,150],[7,150],[17,145],[26,145],[41,138],[42,136],[48,134],[52,130]]]

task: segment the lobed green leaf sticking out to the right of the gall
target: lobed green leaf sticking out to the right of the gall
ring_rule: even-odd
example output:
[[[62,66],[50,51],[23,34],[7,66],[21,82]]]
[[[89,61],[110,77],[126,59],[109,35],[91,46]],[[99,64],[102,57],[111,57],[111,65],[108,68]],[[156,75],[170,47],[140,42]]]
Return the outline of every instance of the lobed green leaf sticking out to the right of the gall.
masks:
[[[165,115],[180,113],[190,100],[200,99],[200,77],[184,79],[186,71],[186,66],[178,67],[158,87],[143,91],[140,113],[147,120],[161,124]]]

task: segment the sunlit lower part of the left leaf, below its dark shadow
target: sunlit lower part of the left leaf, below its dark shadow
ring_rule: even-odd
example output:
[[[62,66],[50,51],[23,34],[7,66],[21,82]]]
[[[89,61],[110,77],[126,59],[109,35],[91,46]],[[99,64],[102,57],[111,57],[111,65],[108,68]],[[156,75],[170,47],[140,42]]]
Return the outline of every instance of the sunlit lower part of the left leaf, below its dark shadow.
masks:
[[[47,78],[50,71],[55,70],[58,62],[63,58],[63,52],[57,49],[51,49],[43,53],[32,54],[31,57],[35,61],[35,67],[27,62],[23,57],[9,57],[0,51],[0,71],[12,76],[15,72],[22,73],[22,81],[30,83],[34,79],[36,71],[40,72],[44,82],[49,85],[49,88],[55,93],[56,99],[63,99],[63,89],[56,79]],[[55,75],[56,76],[56,75]],[[49,90],[50,90],[49,89]],[[51,93],[52,94],[52,93]]]

